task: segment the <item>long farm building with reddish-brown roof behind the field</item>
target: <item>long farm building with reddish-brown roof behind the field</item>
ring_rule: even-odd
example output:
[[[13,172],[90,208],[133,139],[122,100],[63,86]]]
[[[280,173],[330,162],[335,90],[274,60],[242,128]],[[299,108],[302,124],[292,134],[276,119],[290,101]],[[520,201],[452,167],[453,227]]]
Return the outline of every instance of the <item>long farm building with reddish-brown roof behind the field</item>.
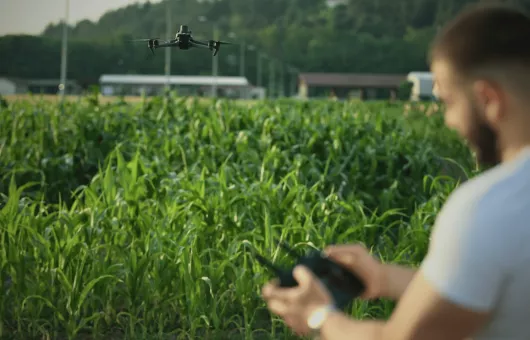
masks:
[[[332,96],[336,98],[395,98],[406,75],[355,73],[301,73],[300,98]]]

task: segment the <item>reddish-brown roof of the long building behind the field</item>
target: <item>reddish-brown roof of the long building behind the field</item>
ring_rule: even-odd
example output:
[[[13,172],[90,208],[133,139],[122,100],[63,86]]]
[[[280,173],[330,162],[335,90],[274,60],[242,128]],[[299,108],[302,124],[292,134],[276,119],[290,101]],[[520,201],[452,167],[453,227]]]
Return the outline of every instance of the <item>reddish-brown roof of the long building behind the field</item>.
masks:
[[[335,87],[399,87],[407,79],[397,74],[301,73],[300,80],[308,86]]]

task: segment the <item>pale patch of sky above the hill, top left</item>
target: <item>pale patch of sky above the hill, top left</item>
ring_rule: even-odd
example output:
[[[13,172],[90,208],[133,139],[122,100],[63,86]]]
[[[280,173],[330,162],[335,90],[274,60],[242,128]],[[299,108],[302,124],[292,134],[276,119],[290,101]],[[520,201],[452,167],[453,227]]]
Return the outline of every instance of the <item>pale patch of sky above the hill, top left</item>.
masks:
[[[0,36],[40,34],[50,23],[65,16],[67,0],[0,0]],[[97,21],[105,12],[146,0],[69,0],[70,24],[89,19]],[[159,0],[151,0],[152,3]]]

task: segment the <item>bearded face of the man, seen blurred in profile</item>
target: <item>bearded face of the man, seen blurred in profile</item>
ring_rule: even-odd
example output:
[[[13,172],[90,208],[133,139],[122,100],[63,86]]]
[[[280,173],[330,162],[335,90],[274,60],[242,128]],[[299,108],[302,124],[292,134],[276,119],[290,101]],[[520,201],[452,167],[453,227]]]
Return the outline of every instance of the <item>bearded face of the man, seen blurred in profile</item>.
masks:
[[[434,95],[445,103],[447,127],[456,130],[474,149],[481,165],[500,163],[497,134],[485,120],[484,112],[476,104],[468,85],[456,77],[450,65],[442,60],[433,62]]]

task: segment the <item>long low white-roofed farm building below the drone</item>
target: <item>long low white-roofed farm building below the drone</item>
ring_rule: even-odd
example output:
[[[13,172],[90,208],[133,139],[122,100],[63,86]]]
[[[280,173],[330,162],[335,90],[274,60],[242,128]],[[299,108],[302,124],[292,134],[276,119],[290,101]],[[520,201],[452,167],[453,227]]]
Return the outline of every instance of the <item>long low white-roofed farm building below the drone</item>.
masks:
[[[165,75],[104,74],[99,83],[103,95],[157,95],[163,92]],[[265,89],[253,86],[245,77],[225,76],[170,76],[172,90],[180,95],[212,95],[212,85],[217,83],[217,95],[232,98],[263,98]]]

